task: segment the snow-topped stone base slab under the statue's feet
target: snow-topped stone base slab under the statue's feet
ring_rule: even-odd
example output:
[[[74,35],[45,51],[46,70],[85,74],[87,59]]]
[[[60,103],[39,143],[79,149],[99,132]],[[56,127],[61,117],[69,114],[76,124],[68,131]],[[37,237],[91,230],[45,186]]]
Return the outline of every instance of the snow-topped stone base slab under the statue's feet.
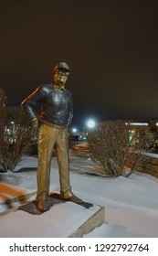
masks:
[[[40,215],[16,210],[0,218],[2,238],[81,238],[105,221],[105,208],[66,201]],[[7,224],[7,225],[6,225]],[[6,228],[7,227],[7,228]]]

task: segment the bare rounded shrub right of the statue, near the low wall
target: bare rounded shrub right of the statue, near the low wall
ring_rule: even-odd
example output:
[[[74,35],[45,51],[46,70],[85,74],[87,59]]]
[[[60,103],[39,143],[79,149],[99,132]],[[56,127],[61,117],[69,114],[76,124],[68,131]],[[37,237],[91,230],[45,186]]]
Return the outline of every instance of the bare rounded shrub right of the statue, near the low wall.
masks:
[[[122,120],[100,123],[87,139],[92,160],[107,176],[130,176],[146,160],[154,140],[147,126],[136,128]]]

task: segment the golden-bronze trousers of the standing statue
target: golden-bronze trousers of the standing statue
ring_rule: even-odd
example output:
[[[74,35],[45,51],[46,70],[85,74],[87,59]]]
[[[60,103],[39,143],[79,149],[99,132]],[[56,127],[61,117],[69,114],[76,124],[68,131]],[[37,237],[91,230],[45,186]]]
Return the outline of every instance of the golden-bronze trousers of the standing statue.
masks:
[[[45,197],[49,192],[50,165],[53,149],[56,149],[60,190],[68,191],[69,159],[68,159],[68,129],[58,129],[47,124],[41,124],[38,133],[38,168],[37,168],[37,199]]]

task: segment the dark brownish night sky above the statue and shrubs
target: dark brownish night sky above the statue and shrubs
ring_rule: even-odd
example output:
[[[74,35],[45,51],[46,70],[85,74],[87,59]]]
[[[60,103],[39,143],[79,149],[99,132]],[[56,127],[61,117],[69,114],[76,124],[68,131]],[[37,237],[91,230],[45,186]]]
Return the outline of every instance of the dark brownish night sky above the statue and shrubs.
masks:
[[[1,0],[0,88],[18,106],[68,62],[74,121],[158,118],[153,0]]]

